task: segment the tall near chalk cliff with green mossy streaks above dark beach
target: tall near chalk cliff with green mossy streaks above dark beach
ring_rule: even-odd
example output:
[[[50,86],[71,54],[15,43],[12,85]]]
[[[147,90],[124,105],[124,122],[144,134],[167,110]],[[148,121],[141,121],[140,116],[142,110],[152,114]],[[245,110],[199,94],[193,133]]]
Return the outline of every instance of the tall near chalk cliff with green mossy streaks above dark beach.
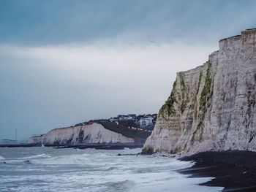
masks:
[[[178,72],[143,151],[256,150],[256,29],[219,41],[203,66]]]

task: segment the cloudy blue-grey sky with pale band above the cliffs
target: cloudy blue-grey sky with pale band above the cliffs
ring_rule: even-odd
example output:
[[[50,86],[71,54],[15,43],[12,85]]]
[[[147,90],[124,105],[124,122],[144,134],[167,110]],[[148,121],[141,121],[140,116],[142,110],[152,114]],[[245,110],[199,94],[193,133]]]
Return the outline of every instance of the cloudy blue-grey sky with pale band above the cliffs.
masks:
[[[256,27],[256,1],[1,0],[0,139],[158,112],[176,72]]]

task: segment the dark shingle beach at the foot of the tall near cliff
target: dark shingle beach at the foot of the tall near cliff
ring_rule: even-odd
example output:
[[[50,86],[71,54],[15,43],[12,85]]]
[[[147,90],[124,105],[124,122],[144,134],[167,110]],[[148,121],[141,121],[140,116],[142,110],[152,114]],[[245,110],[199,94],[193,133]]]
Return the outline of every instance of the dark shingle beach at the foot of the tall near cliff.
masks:
[[[189,177],[214,177],[199,185],[224,187],[222,191],[256,191],[255,152],[203,152],[178,160],[195,161],[192,167],[179,169],[178,172],[181,174],[189,174]]]

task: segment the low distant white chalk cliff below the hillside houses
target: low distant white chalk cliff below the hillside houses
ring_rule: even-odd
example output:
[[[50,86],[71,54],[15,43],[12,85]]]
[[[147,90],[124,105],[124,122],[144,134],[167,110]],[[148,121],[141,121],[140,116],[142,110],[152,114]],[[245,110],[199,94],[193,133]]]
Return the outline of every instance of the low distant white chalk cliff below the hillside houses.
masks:
[[[134,138],[110,131],[99,123],[87,126],[56,128],[40,137],[30,137],[30,144],[80,145],[92,143],[133,143]]]

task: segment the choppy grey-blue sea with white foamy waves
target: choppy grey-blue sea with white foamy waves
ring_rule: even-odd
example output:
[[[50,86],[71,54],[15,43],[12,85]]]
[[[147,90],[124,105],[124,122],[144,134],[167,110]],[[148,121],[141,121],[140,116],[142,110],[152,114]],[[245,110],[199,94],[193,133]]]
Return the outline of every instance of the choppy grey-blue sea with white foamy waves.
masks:
[[[162,155],[135,155],[140,151],[140,148],[1,147],[0,191],[205,192],[223,189],[198,185],[211,177],[192,178],[177,172],[192,166],[193,162]]]

